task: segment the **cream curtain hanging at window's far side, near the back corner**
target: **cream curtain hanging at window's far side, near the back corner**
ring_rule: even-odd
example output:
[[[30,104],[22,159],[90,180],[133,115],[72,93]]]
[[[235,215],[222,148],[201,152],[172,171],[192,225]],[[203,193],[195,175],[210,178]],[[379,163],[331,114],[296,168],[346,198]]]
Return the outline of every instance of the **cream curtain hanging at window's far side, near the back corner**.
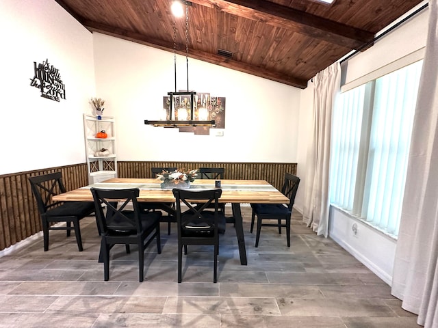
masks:
[[[341,66],[332,64],[316,74],[313,131],[307,152],[303,220],[318,235],[329,232],[329,168],[331,113],[340,92]]]

